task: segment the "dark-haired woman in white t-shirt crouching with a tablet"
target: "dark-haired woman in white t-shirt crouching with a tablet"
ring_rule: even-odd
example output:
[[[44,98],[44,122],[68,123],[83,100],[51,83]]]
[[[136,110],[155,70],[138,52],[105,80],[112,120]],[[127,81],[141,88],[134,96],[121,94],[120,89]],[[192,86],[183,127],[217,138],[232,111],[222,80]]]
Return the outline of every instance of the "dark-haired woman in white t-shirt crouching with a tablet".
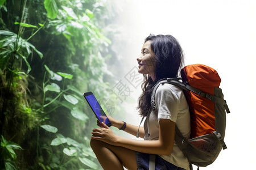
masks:
[[[92,131],[90,145],[104,169],[148,169],[150,154],[156,155],[156,169],[189,169],[188,160],[174,142],[175,125],[184,135],[190,135],[190,116],[183,91],[172,84],[163,84],[156,90],[156,110],[151,110],[151,92],[162,78],[174,78],[183,65],[179,42],[171,35],[150,35],[144,41],[137,58],[139,73],[143,74],[142,95],[138,109],[147,116],[139,137],[144,141],[119,137],[104,123]],[[138,126],[109,117],[112,125],[137,135]],[[147,134],[145,134],[147,132]]]

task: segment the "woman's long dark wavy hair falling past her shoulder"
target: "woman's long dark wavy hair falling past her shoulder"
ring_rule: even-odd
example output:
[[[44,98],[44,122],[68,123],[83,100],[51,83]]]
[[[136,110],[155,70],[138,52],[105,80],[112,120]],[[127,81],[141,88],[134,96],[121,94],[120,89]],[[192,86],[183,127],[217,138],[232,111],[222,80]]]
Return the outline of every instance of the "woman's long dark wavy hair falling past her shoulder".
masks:
[[[142,94],[138,99],[138,107],[141,116],[147,116],[151,107],[152,87],[162,78],[174,78],[180,73],[184,63],[183,50],[175,37],[171,35],[152,35],[148,36],[144,42],[151,40],[151,50],[155,54],[155,80],[143,74],[141,85]]]

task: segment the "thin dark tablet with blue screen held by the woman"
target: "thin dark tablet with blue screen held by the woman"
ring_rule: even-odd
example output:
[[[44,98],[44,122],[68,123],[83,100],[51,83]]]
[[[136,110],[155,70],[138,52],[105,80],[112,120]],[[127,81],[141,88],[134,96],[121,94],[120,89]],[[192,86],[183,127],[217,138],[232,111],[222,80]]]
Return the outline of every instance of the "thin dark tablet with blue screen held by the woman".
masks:
[[[92,92],[85,92],[84,97],[88,104],[90,105],[90,108],[92,109],[93,113],[96,115],[98,121],[104,122],[107,126],[111,126],[111,122],[109,121],[108,117],[106,116],[105,112],[101,108],[100,104],[98,103],[96,97],[93,95]]]

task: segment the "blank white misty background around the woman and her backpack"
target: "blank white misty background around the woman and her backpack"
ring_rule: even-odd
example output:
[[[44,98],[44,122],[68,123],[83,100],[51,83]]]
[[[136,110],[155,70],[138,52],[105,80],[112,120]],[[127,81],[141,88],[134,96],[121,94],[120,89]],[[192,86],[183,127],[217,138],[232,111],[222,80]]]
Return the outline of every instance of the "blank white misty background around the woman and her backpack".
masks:
[[[220,75],[221,88],[231,113],[226,122],[225,143],[216,162],[205,170],[251,169],[256,160],[253,137],[255,122],[255,46],[256,1],[254,0],[179,0],[115,1],[119,7],[117,25],[121,28],[123,48],[117,53],[124,70],[117,80],[125,82],[124,73],[134,66],[145,37],[150,33],[170,34],[179,40],[185,65],[203,63]],[[119,44],[120,45],[120,44]],[[122,45],[122,44],[121,44]],[[138,125],[135,107],[140,87],[133,92],[124,118]],[[125,103],[123,103],[125,104]],[[253,154],[251,154],[253,153]],[[195,167],[194,167],[195,168]]]

